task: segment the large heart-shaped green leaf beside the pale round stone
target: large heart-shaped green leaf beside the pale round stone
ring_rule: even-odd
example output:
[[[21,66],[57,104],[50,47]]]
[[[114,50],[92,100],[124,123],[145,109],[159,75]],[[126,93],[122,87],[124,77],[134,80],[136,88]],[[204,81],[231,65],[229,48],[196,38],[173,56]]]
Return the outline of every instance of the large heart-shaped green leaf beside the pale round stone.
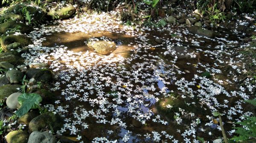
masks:
[[[18,117],[25,115],[30,109],[38,108],[39,103],[42,101],[40,95],[35,93],[23,93],[18,97],[18,102],[21,107],[15,113]]]

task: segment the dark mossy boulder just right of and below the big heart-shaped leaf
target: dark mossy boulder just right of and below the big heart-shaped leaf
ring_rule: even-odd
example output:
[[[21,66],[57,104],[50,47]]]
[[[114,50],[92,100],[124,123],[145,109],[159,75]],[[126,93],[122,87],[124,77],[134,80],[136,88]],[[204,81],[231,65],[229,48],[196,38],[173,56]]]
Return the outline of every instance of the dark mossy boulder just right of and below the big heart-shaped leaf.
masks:
[[[33,118],[29,122],[29,132],[41,131],[46,127],[50,128],[50,126],[55,132],[63,126],[63,119],[58,113],[47,112]]]

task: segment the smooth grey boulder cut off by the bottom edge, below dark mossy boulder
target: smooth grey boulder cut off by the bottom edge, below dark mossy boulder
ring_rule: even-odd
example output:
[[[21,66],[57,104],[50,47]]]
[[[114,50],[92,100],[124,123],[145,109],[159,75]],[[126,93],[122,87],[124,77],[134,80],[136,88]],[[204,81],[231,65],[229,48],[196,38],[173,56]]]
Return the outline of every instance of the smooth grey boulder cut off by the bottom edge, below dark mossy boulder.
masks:
[[[55,143],[55,137],[49,132],[34,131],[29,135],[28,143]]]

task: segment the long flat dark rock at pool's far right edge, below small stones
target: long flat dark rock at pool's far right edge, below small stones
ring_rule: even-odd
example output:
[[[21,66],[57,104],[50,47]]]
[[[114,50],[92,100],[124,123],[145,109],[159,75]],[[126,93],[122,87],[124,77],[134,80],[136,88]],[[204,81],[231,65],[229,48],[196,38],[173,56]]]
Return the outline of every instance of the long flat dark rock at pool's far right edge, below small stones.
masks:
[[[214,31],[203,29],[199,26],[191,26],[188,31],[192,34],[198,34],[200,36],[206,36],[208,38],[213,38],[215,36]]]

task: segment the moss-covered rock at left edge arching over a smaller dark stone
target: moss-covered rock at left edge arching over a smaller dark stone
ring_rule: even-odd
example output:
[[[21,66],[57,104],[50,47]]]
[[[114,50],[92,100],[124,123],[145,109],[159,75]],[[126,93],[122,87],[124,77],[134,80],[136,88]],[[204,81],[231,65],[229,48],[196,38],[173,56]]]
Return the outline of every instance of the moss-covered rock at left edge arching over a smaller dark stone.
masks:
[[[12,43],[20,43],[21,46],[26,47],[29,44],[32,44],[32,41],[26,35],[9,35],[9,36],[1,36],[1,46],[4,50],[7,50],[7,46]]]

